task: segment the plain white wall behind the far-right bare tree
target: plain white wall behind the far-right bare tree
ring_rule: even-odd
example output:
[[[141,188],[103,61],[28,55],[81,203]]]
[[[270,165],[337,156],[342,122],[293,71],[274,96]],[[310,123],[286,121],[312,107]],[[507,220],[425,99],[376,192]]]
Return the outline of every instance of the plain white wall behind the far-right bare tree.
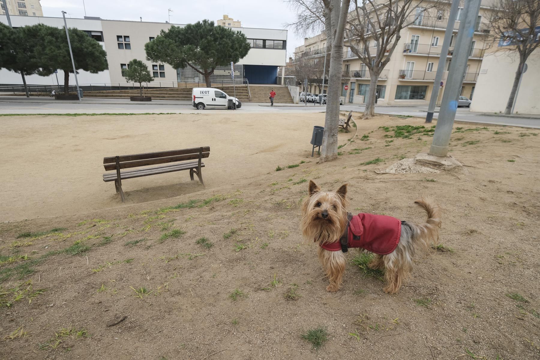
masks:
[[[471,111],[504,112],[518,66],[517,52],[491,53],[482,61],[480,75],[473,94]],[[540,114],[540,49],[527,60],[514,111],[520,114]]]

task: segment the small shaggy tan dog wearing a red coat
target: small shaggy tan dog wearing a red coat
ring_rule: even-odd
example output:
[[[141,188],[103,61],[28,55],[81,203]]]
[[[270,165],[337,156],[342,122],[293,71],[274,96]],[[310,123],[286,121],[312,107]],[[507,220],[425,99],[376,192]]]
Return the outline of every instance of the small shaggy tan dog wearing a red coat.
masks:
[[[342,284],[345,255],[349,247],[369,250],[376,255],[369,263],[373,269],[386,269],[384,292],[395,294],[413,267],[415,250],[426,250],[438,239],[441,212],[429,199],[415,201],[428,215],[417,225],[392,216],[347,213],[347,184],[338,191],[321,191],[309,181],[309,197],[302,203],[302,234],[319,243],[319,261],[325,270],[329,286],[335,293]]]

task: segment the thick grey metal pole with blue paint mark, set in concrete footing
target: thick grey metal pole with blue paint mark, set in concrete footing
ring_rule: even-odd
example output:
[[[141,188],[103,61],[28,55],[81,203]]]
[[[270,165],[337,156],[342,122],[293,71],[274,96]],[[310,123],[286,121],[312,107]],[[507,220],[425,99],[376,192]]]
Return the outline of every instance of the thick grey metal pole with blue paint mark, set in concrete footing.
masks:
[[[437,119],[437,127],[433,134],[433,142],[429,153],[438,157],[446,157],[448,154],[448,144],[454,119],[457,111],[457,95],[463,85],[463,76],[467,69],[470,47],[473,42],[473,35],[480,11],[481,0],[469,0],[465,2],[462,14],[460,30],[457,32],[456,49],[448,72],[447,87],[442,98],[441,111]]]

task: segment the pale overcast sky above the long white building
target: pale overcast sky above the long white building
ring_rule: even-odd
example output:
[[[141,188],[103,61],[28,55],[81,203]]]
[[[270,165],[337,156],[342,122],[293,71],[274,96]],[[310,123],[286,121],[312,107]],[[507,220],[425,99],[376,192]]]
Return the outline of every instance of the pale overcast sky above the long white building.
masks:
[[[168,9],[172,9],[171,23],[188,24],[202,19],[216,21],[224,14],[240,20],[245,28],[284,29],[294,14],[281,0],[85,0],[86,16],[109,20],[134,20],[165,22]],[[83,18],[83,0],[41,0],[43,15]],[[287,53],[292,56],[294,48],[303,43],[303,35],[288,31]]]

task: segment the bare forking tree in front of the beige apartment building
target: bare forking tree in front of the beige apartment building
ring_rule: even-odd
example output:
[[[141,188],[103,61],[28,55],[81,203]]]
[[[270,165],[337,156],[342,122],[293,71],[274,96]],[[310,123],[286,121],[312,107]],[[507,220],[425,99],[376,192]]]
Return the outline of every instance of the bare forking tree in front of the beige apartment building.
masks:
[[[363,119],[369,119],[375,115],[377,80],[401,39],[401,30],[415,22],[421,24],[428,9],[437,6],[437,1],[361,0],[360,4],[359,0],[353,2],[354,10],[347,22],[348,40],[345,46],[350,47],[369,70],[368,99],[362,116]]]

